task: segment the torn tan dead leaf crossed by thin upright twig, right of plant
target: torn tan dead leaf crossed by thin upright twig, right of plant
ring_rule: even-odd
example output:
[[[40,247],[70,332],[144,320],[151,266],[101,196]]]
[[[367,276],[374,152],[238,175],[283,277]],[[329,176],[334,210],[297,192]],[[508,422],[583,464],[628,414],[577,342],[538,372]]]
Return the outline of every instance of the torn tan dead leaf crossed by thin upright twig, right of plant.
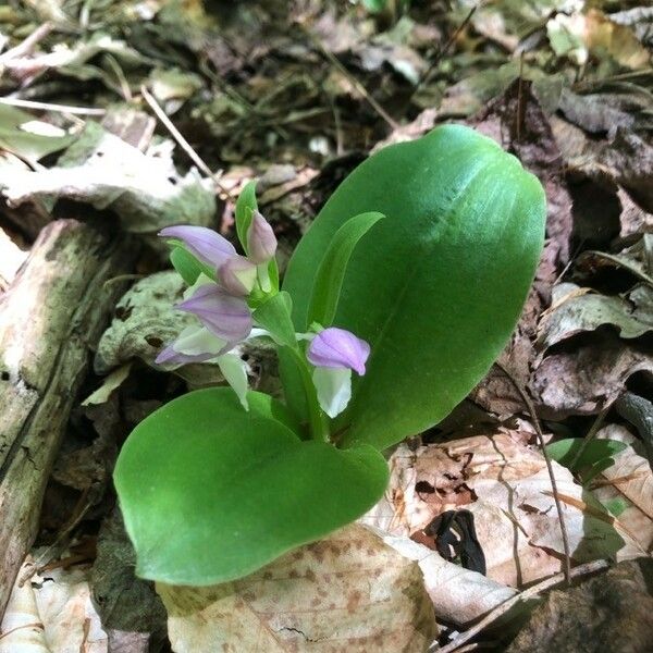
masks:
[[[544,458],[528,444],[529,431],[505,428],[488,435],[411,451],[401,445],[390,459],[391,481],[375,512],[375,525],[396,535],[423,531],[448,509],[473,515],[488,577],[521,587],[560,570],[563,542]],[[642,555],[640,544],[568,469],[554,463],[571,556]]]

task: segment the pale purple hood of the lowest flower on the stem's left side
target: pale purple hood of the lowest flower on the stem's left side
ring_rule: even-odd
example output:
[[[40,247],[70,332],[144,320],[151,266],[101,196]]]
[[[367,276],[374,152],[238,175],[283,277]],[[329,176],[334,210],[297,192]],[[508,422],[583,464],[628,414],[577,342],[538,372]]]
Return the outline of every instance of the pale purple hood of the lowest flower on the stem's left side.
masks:
[[[212,283],[200,285],[177,308],[196,315],[211,333],[227,343],[236,344],[251,331],[251,311],[247,303]]]

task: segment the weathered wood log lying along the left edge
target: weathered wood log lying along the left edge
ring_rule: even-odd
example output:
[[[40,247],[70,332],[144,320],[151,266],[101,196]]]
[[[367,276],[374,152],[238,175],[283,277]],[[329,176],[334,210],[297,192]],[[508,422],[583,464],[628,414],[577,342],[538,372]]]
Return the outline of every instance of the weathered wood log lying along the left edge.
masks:
[[[37,534],[69,414],[135,247],[90,224],[48,225],[0,297],[0,621]]]

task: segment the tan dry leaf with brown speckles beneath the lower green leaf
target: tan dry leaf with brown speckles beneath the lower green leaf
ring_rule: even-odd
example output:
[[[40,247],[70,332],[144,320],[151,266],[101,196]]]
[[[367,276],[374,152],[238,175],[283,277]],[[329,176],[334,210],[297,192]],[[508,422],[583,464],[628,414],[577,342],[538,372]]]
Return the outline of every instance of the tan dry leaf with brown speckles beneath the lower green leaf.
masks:
[[[436,637],[418,565],[358,525],[242,580],[157,590],[176,653],[422,653]]]

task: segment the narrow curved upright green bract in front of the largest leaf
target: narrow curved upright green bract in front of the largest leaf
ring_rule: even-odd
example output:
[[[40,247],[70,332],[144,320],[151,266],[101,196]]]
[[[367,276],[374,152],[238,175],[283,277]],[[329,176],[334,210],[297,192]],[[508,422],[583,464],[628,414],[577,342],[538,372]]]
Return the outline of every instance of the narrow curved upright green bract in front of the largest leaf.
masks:
[[[329,326],[333,322],[347,263],[358,241],[372,229],[382,213],[361,213],[345,222],[333,236],[329,249],[318,268],[313,284],[308,323],[318,322]]]

